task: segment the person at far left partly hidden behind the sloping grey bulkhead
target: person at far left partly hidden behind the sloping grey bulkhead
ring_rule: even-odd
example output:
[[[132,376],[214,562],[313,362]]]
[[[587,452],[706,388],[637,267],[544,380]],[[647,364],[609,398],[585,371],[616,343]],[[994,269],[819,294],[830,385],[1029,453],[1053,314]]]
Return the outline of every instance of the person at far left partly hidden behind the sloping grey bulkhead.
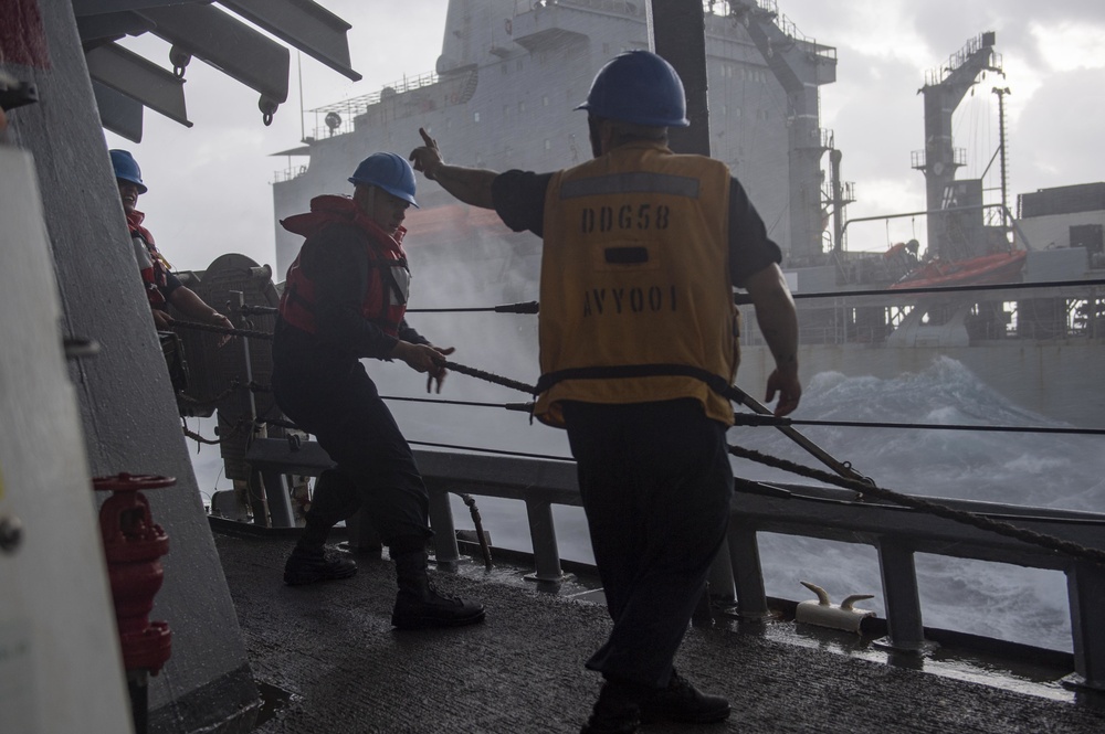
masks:
[[[208,306],[202,298],[196,295],[196,291],[181,285],[180,279],[169,272],[169,263],[154,244],[154,235],[143,226],[143,220],[146,219],[146,215],[135,209],[139,194],[149,190],[143,183],[138,161],[128,150],[112,150],[109,152],[112,168],[115,169],[115,181],[119,185],[119,198],[123,200],[123,211],[127,215],[127,227],[130,230],[130,240],[135,246],[135,257],[138,259],[138,269],[141,272],[141,279],[146,286],[146,298],[149,299],[149,308],[154,315],[157,330],[170,330],[172,326],[172,319],[169,316],[170,304],[190,321],[233,329],[234,325],[230,319]],[[219,345],[221,347],[230,339],[230,334],[223,334],[219,340]]]

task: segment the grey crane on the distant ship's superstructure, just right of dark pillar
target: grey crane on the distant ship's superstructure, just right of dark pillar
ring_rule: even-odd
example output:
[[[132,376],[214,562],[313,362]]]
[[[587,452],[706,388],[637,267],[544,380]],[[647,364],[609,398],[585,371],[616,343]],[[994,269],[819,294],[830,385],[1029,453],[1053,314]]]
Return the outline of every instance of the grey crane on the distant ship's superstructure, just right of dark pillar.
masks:
[[[820,125],[818,87],[836,81],[836,50],[797,38],[793,24],[779,15],[774,0],[730,0],[734,17],[764,55],[787,94],[790,158],[791,266],[823,262],[821,157],[832,148]],[[780,26],[781,25],[781,26]],[[834,243],[835,247],[840,245]]]

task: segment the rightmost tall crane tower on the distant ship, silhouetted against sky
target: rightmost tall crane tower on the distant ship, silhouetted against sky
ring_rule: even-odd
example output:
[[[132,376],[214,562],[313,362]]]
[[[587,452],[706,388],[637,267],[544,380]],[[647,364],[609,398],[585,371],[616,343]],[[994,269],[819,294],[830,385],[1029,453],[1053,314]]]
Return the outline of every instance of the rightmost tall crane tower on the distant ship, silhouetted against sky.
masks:
[[[913,155],[913,168],[925,174],[928,211],[928,253],[944,259],[967,259],[985,255],[982,233],[981,182],[958,182],[956,169],[965,163],[964,151],[951,139],[951,115],[975,86],[979,74],[997,72],[1004,76],[1001,56],[994,53],[994,33],[982,33],[950,56],[946,64],[925,75],[925,149]],[[977,200],[977,201],[976,201]],[[940,210],[979,206],[977,216],[954,215]]]

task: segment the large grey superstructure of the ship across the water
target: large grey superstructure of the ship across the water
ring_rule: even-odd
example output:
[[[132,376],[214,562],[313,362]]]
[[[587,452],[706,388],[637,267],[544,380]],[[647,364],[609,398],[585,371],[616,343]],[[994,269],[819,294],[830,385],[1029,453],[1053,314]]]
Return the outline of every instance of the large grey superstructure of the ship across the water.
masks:
[[[835,79],[835,51],[802,36],[774,1],[716,6],[704,11],[711,155],[745,183],[788,262],[820,263],[820,160],[832,135],[820,127],[818,86]],[[623,0],[450,0],[433,72],[314,110],[319,129],[286,151],[309,162],[273,187],[276,220],[305,211],[313,195],[347,191],[350,161],[406,153],[419,127],[462,166],[549,171],[586,160],[587,127],[573,108],[603,63],[649,47],[648,20],[645,3]],[[409,216],[412,257],[496,221],[435,189],[424,188],[422,210]],[[535,264],[526,256],[535,240],[513,243],[522,267]],[[298,244],[276,224],[278,273]]]

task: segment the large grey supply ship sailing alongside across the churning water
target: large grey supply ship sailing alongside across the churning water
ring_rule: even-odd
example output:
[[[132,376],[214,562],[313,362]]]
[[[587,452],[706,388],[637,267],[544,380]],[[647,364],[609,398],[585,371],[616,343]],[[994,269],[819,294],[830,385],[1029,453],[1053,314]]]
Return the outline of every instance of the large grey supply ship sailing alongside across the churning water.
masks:
[[[617,0],[450,2],[435,70],[313,110],[314,135],[278,153],[288,164],[273,185],[276,278],[298,246],[278,220],[306,211],[318,192],[347,190],[350,160],[410,148],[419,127],[462,166],[546,171],[589,156],[582,114],[572,108],[611,55],[649,47],[645,10]],[[1105,408],[1096,376],[1105,369],[1099,295],[1087,286],[1041,285],[1105,273],[1105,183],[1024,193],[1014,202],[1004,184],[1003,119],[994,151],[1000,195],[982,179],[957,178],[967,151],[953,138],[953,115],[986,73],[1003,73],[996,33],[969,39],[923,81],[927,142],[908,160],[925,178],[925,201],[913,212],[850,221],[856,188],[841,180],[846,151],[823,126],[819,97],[835,81],[835,49],[804,36],[774,1],[711,3],[704,18],[697,110],[694,85],[688,94],[691,114],[705,124],[697,139],[675,132],[673,146],[725,161],[750,192],[785,252],[791,289],[803,299],[802,364],[890,379],[950,357],[1027,409],[1098,425]],[[432,265],[445,262],[481,281],[486,299],[534,298],[536,237],[511,233],[493,212],[459,204],[430,182],[420,203],[407,222],[417,273],[433,274]],[[924,245],[849,249],[850,228],[906,215],[926,222]],[[992,284],[1030,287],[962,291]],[[902,295],[948,287],[959,290]],[[435,299],[428,306],[457,302],[427,290],[438,291],[422,295]],[[741,379],[762,384],[770,360],[757,357],[764,347],[755,325],[745,347]]]

